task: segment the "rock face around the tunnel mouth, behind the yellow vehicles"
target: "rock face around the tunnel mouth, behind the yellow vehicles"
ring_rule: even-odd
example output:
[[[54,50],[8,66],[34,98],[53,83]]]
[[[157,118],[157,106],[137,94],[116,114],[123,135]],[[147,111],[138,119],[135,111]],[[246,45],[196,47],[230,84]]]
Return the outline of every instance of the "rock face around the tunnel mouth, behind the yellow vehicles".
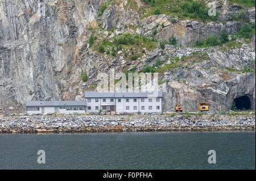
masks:
[[[255,109],[255,73],[242,73],[232,71],[229,68],[242,70],[246,58],[255,57],[255,49],[244,47],[233,49],[232,53],[211,48],[205,50],[202,60],[178,68],[174,73],[166,72],[164,78],[168,83],[163,83],[164,108],[172,111],[178,101],[184,105],[184,110],[198,110],[200,102],[209,102],[210,111],[228,111],[234,99],[247,96],[250,99],[251,108]],[[246,57],[249,51],[252,57]]]

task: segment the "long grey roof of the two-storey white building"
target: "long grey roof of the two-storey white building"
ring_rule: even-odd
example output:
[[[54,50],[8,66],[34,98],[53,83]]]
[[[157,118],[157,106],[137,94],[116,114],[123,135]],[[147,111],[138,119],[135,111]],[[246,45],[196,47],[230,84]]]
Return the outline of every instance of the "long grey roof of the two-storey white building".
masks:
[[[87,92],[85,98],[147,98],[147,97],[163,97],[163,91],[156,92]]]

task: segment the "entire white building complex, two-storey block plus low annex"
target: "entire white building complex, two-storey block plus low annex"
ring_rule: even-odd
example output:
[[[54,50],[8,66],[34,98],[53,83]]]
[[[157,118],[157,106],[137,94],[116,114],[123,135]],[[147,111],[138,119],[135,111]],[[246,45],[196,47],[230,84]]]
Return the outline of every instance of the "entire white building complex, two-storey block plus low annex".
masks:
[[[29,101],[27,113],[160,113],[163,92],[85,92],[86,101]]]

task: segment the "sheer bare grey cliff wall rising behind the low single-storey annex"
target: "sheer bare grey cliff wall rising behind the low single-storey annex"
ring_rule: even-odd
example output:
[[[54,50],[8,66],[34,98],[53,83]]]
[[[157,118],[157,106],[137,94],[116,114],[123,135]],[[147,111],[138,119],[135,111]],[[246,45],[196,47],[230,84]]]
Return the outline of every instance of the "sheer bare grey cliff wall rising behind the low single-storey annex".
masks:
[[[58,100],[76,65],[84,27],[102,1],[0,2],[0,94]]]

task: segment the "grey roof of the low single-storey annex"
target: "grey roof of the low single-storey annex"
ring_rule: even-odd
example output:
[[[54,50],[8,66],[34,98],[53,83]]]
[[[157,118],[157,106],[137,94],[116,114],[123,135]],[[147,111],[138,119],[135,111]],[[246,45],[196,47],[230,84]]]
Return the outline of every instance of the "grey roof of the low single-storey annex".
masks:
[[[26,102],[26,106],[86,106],[86,101],[28,101]]]

